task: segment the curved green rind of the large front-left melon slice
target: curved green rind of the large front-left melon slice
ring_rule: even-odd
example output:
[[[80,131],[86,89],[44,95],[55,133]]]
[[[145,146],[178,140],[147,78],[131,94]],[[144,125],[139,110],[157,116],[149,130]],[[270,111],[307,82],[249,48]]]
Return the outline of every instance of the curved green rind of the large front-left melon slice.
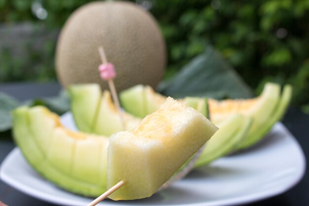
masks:
[[[20,107],[12,112],[13,137],[30,165],[44,178],[50,180],[60,188],[89,197],[97,197],[106,191],[106,180],[91,184],[79,181],[66,175],[59,167],[52,165],[39,142],[34,138],[31,128],[30,110],[28,107]],[[41,125],[39,125],[41,127]],[[102,180],[102,177],[100,177]]]

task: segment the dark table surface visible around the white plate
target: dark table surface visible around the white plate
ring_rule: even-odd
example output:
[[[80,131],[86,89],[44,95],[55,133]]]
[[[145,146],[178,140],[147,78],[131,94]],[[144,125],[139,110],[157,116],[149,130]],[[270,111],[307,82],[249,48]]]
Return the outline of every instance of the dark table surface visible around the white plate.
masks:
[[[6,92],[17,99],[26,100],[35,97],[51,97],[58,94],[61,87],[57,82],[51,83],[9,83],[0,84],[0,92]],[[289,108],[283,124],[291,131],[300,143],[309,159],[309,115],[302,113],[297,108]],[[0,163],[15,147],[10,131],[2,132],[0,138]],[[236,187],[237,185],[235,185]],[[0,180],[0,201],[8,206],[55,206],[6,185]],[[303,179],[289,191],[246,206],[309,206],[309,175],[306,171]]]

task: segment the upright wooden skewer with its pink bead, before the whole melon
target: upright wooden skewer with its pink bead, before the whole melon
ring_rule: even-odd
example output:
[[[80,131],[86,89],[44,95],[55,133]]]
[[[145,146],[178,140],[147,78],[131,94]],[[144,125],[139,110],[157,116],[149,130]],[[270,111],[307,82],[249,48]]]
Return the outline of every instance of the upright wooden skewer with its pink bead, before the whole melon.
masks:
[[[99,72],[100,72],[100,77],[102,80],[107,81],[112,93],[112,97],[113,100],[115,102],[116,105],[116,109],[118,111],[119,117],[120,117],[120,121],[122,124],[122,129],[125,130],[125,125],[124,125],[124,120],[123,120],[123,116],[122,116],[122,111],[120,109],[120,104],[119,104],[119,100],[118,100],[118,96],[117,96],[117,92],[116,92],[116,87],[114,84],[114,79],[116,77],[116,71],[115,71],[115,67],[112,63],[108,63],[107,59],[106,59],[106,55],[104,52],[104,49],[102,46],[99,47],[99,53],[100,53],[100,57],[102,60],[102,64],[99,65]]]

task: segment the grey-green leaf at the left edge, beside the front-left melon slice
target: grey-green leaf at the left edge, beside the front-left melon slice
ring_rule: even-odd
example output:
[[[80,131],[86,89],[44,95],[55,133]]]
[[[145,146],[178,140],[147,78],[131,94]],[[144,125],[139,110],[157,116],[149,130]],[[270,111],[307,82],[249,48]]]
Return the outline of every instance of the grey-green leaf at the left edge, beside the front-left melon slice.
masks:
[[[12,119],[10,111],[19,105],[18,100],[0,92],[0,131],[6,131],[11,128]]]

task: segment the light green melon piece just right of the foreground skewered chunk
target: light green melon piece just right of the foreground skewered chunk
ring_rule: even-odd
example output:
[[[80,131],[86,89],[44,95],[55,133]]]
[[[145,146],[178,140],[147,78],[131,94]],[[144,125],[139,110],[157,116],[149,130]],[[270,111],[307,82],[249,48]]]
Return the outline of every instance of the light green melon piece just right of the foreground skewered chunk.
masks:
[[[230,154],[247,135],[251,124],[251,118],[235,114],[222,124],[217,125],[219,130],[208,140],[194,167],[208,165],[212,161]]]

